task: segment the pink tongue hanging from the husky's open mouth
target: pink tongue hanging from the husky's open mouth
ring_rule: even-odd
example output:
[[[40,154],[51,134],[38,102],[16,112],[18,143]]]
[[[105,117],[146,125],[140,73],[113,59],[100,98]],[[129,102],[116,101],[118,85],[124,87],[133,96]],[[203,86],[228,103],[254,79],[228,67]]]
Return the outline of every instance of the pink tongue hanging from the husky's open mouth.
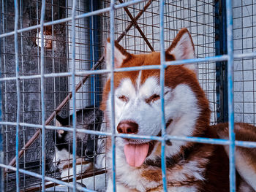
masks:
[[[130,166],[141,166],[148,155],[149,144],[127,144],[124,145],[124,155]]]

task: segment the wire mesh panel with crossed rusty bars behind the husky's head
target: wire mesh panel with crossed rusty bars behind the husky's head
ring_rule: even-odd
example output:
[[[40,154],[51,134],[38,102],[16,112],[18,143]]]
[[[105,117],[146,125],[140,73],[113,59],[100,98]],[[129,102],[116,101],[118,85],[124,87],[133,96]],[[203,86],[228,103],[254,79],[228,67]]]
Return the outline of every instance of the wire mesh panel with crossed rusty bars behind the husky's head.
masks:
[[[120,2],[118,1],[118,3]],[[102,2],[102,7],[109,5],[110,2],[108,1]],[[146,2],[129,6],[127,9],[135,18],[145,6]],[[124,9],[117,9],[115,18],[115,37],[117,39],[131,19]],[[102,19],[104,23],[102,26],[104,26],[105,31],[109,31],[109,13],[106,12]],[[150,53],[152,50],[159,51],[159,1],[152,1],[148,9],[138,18],[137,23],[145,38],[138,28],[134,27],[120,41],[120,45],[129,53],[135,54]],[[188,28],[195,43],[197,58],[214,56],[214,1],[166,1],[164,24],[165,47],[171,45],[181,28]],[[102,37],[104,41],[107,39],[108,33],[104,33]],[[216,123],[215,63],[198,64],[197,76],[211,104],[211,123]]]

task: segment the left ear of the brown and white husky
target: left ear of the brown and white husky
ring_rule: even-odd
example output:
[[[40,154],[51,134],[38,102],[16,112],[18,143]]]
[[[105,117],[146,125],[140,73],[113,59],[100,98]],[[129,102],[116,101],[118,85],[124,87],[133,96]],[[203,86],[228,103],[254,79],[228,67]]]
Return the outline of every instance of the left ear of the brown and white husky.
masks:
[[[127,53],[126,50],[124,50],[124,47],[121,47],[121,45],[118,44],[118,42],[115,41],[115,47],[114,47],[114,64],[115,68],[120,68],[123,64],[123,61],[129,57],[129,53]],[[107,69],[111,69],[111,44],[110,44],[110,38],[107,39],[106,46],[105,46],[105,62]]]

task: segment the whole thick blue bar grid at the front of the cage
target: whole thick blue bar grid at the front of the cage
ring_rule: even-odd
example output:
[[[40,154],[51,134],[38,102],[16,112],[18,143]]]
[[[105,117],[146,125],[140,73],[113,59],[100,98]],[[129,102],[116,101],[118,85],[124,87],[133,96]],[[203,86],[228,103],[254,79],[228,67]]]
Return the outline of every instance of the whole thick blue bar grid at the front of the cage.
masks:
[[[20,114],[20,104],[18,103],[18,109],[17,109],[17,120],[16,123],[12,122],[3,122],[1,121],[1,125],[14,125],[16,126],[16,167],[13,166],[7,166],[5,164],[0,163],[1,168],[5,169],[12,169],[16,172],[16,183],[17,183],[17,191],[19,191],[19,173],[24,173],[24,174],[29,174],[33,177],[38,177],[42,179],[42,191],[45,190],[45,180],[52,181],[54,183],[58,183],[61,185],[67,185],[68,187],[73,188],[73,191],[76,191],[76,188],[80,191],[90,191],[86,188],[82,188],[80,186],[77,186],[75,183],[76,180],[76,173],[75,169],[73,172],[74,175],[74,180],[73,183],[65,183],[61,180],[56,180],[50,177],[45,176],[45,157],[44,157],[44,150],[43,146],[45,145],[45,129],[62,129],[66,131],[73,131],[73,134],[76,132],[83,132],[83,133],[89,133],[89,134],[98,134],[98,135],[105,135],[105,136],[111,136],[112,139],[112,150],[113,150],[113,191],[116,191],[116,161],[115,161],[115,138],[116,137],[124,137],[124,138],[133,138],[133,139],[154,139],[159,142],[162,142],[162,180],[163,180],[163,185],[164,185],[164,191],[167,191],[167,183],[166,183],[166,178],[165,178],[165,142],[167,140],[184,140],[184,141],[192,141],[192,142],[203,142],[203,143],[208,143],[208,144],[217,144],[217,145],[230,145],[230,191],[234,192],[236,191],[236,169],[235,169],[235,146],[242,146],[242,147],[256,147],[255,142],[240,142],[240,141],[235,141],[235,135],[234,135],[234,109],[233,109],[233,60],[234,58],[252,58],[256,56],[256,52],[254,53],[246,53],[246,54],[239,54],[239,55],[234,55],[233,54],[233,16],[232,16],[232,1],[231,0],[226,0],[226,10],[227,10],[227,54],[225,55],[217,55],[214,57],[210,58],[195,58],[195,59],[189,59],[189,60],[184,60],[184,61],[165,61],[165,47],[164,47],[164,5],[165,1],[161,0],[160,1],[160,41],[161,41],[161,65],[160,66],[138,66],[138,67],[129,67],[129,68],[122,68],[122,69],[114,69],[114,59],[112,55],[111,61],[112,61],[112,69],[106,70],[106,69],[100,69],[97,71],[86,71],[86,72],[75,72],[75,20],[78,20],[80,18],[86,18],[90,17],[92,15],[98,15],[99,13],[102,12],[110,12],[110,43],[112,45],[112,53],[114,49],[114,11],[116,9],[120,9],[122,7],[127,7],[128,5],[131,4],[137,4],[141,1],[145,0],[133,0],[133,1],[128,1],[126,3],[122,4],[115,4],[114,0],[111,0],[110,7],[104,8],[104,9],[99,9],[96,11],[88,12],[82,15],[75,15],[75,3],[76,1],[73,1],[73,6],[72,6],[72,17],[71,18],[65,18],[61,20],[54,20],[52,22],[44,23],[44,15],[45,15],[45,0],[42,1],[42,12],[41,12],[41,21],[40,24],[37,26],[31,26],[28,28],[21,28],[18,29],[18,1],[15,0],[15,31],[11,31],[6,34],[0,34],[0,39],[3,37],[7,36],[12,36],[14,35],[15,39],[17,39],[18,34],[22,33],[23,31],[30,31],[31,29],[35,28],[40,28],[41,31],[43,31],[44,26],[51,26],[56,23],[63,23],[67,22],[69,20],[72,21],[72,72],[68,73],[61,73],[61,74],[44,74],[44,49],[41,48],[41,73],[39,75],[30,75],[30,76],[20,76],[19,75],[19,69],[18,69],[18,41],[15,40],[15,64],[16,64],[16,76],[15,77],[7,77],[7,78],[1,78],[0,81],[7,81],[7,80],[15,80],[16,85],[17,85],[17,96],[18,96],[18,102],[20,101],[20,87],[19,87],[19,80],[20,79],[31,79],[31,78],[40,78],[41,80],[41,99],[42,99],[42,125],[34,125],[31,123],[20,123],[19,119],[19,114]],[[43,35],[41,36],[41,39],[43,39]],[[102,61],[103,58],[100,58],[99,61]],[[165,118],[164,118],[164,99],[163,99],[163,85],[164,85],[164,73],[165,73],[165,68],[169,65],[177,65],[177,64],[192,64],[192,63],[200,63],[203,61],[227,61],[227,80],[228,80],[228,120],[229,120],[229,131],[230,131],[230,139],[208,139],[208,138],[197,138],[197,137],[174,137],[174,136],[169,136],[165,134]],[[94,68],[97,67],[97,64],[94,65]],[[44,106],[44,87],[43,87],[43,81],[45,78],[48,77],[63,77],[63,76],[71,76],[72,77],[72,94],[68,96],[70,98],[73,96],[73,114],[75,114],[75,92],[79,86],[75,86],[75,75],[80,75],[80,74],[86,74],[86,78],[89,76],[89,74],[102,74],[102,73],[107,73],[110,72],[111,74],[111,89],[110,93],[112,95],[111,99],[111,104],[114,109],[114,89],[113,89],[113,73],[114,72],[124,72],[124,71],[138,71],[138,70],[146,70],[146,69],[160,69],[160,85],[161,87],[161,103],[162,103],[162,137],[153,137],[153,136],[138,136],[138,135],[132,135],[132,134],[115,134],[114,130],[114,118],[111,118],[111,124],[112,124],[112,133],[106,133],[106,132],[100,132],[100,131],[89,131],[89,130],[80,130],[76,128],[75,126],[75,115],[73,115],[73,128],[64,128],[64,127],[56,127],[56,126],[47,126],[48,122],[53,119],[53,116],[50,116],[48,120],[45,120],[45,106]],[[61,108],[61,107],[60,107]],[[1,112],[1,111],[0,111]],[[115,111],[113,110],[111,113],[111,116],[114,117]],[[42,130],[42,175],[41,174],[35,174],[33,172],[26,171],[24,169],[19,169],[19,151],[18,151],[18,133],[19,133],[19,126],[29,126],[29,127],[34,127],[34,128],[40,128]],[[0,137],[1,139],[1,137]],[[1,143],[1,140],[0,140]],[[73,137],[73,164],[76,163],[75,160],[75,150],[76,149],[76,139]],[[1,177],[0,177],[1,178]]]

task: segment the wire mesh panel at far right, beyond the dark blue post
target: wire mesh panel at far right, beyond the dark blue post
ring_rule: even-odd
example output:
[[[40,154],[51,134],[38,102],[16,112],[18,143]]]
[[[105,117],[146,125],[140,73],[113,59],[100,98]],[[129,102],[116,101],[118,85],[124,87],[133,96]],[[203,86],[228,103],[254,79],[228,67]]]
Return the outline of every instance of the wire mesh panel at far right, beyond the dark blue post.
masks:
[[[234,53],[255,51],[255,1],[233,2]],[[235,120],[255,124],[255,58],[234,61]]]

